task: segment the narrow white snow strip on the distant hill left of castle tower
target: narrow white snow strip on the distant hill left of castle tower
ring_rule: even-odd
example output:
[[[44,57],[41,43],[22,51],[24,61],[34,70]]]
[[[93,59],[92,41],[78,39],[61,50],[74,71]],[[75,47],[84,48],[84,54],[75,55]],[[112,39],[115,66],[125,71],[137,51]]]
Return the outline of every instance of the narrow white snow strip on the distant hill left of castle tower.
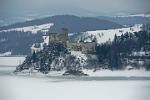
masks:
[[[53,23],[48,23],[48,24],[27,26],[27,27],[21,27],[21,28],[12,28],[8,30],[2,30],[0,32],[24,31],[24,32],[32,32],[33,34],[36,34],[38,31],[48,32],[50,27],[53,25],[54,25]]]

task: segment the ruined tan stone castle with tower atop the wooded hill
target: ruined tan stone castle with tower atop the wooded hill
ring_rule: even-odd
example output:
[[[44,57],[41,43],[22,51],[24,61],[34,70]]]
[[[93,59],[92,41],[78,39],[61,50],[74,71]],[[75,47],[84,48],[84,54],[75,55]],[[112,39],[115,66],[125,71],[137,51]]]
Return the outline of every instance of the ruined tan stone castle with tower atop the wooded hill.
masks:
[[[62,28],[62,33],[49,33],[48,37],[48,43],[50,42],[61,42],[64,44],[64,46],[70,50],[74,51],[81,51],[84,54],[93,54],[96,52],[95,42],[73,42],[68,37],[68,29]],[[38,52],[38,48],[31,48],[32,52]],[[38,50],[38,51],[37,51]]]

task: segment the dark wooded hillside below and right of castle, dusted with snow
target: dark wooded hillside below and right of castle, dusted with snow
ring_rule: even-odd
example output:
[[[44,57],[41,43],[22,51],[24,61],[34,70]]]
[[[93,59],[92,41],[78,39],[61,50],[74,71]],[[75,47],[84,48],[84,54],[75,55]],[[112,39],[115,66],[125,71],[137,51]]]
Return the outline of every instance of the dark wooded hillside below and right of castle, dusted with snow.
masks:
[[[136,25],[129,29],[118,29],[122,34],[117,33],[117,29],[98,31],[103,32],[104,35],[100,34],[101,37],[94,37],[94,35],[99,35],[99,33],[96,33],[97,31],[93,34],[83,34],[83,36],[80,36],[83,39],[80,42],[92,42],[93,40],[86,36],[92,37],[93,35],[98,43],[94,47],[95,53],[92,54],[83,53],[81,49],[65,47],[62,42],[49,42],[40,52],[35,50],[31,55],[28,55],[15,72],[28,70],[32,73],[30,70],[32,69],[48,74],[50,71],[65,70],[63,75],[80,76],[87,75],[82,72],[83,69],[93,69],[94,72],[100,69],[150,70],[149,29],[148,25]],[[109,32],[111,33],[111,39],[108,38],[110,42],[107,42],[105,34],[108,35]]]

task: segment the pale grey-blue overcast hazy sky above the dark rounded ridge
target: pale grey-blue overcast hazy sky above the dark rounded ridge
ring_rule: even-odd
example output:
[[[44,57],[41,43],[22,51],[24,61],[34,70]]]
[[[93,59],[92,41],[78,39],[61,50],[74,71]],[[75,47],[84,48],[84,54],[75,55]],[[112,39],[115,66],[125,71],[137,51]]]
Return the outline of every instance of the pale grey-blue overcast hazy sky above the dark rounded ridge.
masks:
[[[127,15],[150,11],[150,0],[0,0],[1,15]]]

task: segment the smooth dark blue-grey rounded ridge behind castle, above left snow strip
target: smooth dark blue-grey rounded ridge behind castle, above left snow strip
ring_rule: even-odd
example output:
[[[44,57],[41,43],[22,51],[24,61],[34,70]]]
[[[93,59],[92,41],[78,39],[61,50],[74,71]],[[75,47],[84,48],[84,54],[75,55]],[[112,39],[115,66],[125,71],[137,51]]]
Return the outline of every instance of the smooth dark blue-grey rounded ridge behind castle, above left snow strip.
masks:
[[[47,17],[43,19],[36,19],[33,21],[27,21],[23,23],[16,23],[13,25],[0,27],[0,30],[8,30],[13,28],[28,27],[34,25],[42,25],[53,23],[54,26],[50,29],[51,32],[60,32],[61,28],[66,27],[70,32],[83,32],[83,31],[94,31],[100,29],[114,29],[121,28],[115,22],[97,19],[94,17],[77,17],[72,15],[57,15]]]

